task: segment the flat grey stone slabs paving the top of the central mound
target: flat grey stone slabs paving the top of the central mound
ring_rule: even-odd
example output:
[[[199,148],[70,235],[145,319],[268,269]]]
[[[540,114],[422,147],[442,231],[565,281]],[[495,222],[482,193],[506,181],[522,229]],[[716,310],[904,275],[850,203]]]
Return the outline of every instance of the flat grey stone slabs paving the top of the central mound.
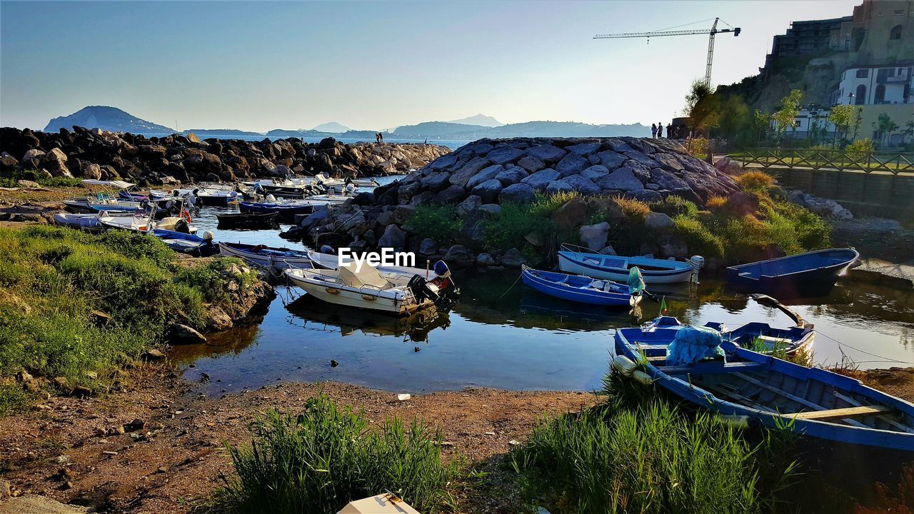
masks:
[[[481,139],[443,155],[388,187],[382,205],[523,202],[537,191],[578,191],[659,201],[676,195],[704,206],[739,187],[726,173],[665,139]]]

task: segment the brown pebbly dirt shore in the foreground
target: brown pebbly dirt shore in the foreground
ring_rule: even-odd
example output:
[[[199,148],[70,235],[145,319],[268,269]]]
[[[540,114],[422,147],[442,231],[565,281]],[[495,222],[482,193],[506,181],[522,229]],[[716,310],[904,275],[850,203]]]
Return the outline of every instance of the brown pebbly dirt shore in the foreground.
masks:
[[[154,364],[129,371],[127,382],[126,391],[104,398],[52,398],[3,419],[0,477],[13,494],[100,511],[187,512],[195,498],[221,485],[221,473],[231,471],[223,444],[244,443],[257,412],[294,412],[317,390],[314,384],[281,382],[207,399],[168,365]],[[583,392],[467,389],[399,402],[387,391],[336,382],[321,387],[335,401],[365,409],[372,423],[392,415],[427,420],[441,429],[448,458],[459,455],[476,470],[496,471],[473,488],[473,498],[458,492],[458,511],[480,514],[515,512],[515,491],[498,470],[538,417],[577,411],[595,400]]]

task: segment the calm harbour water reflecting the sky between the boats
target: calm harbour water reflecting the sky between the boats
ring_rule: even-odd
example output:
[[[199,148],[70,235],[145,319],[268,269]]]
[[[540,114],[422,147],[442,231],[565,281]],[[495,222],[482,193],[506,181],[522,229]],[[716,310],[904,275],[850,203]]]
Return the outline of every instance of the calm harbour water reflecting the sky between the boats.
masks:
[[[213,230],[217,241],[302,247],[279,238],[278,230],[217,230],[217,212],[204,208],[195,219],[201,230]],[[659,312],[647,300],[634,313],[562,303],[515,284],[517,275],[455,270],[462,302],[450,313],[406,319],[326,305],[281,286],[259,326],[210,337],[207,345],[175,348],[175,359],[195,364],[186,367],[189,380],[207,373],[205,391],[211,394],[318,379],[388,391],[468,385],[586,391],[598,388],[606,372],[614,329]],[[781,311],[725,291],[717,276],[701,277],[692,292],[687,286],[654,289],[666,295],[670,314],[685,322],[791,325]],[[861,368],[914,366],[912,291],[845,278],[830,296],[793,308],[819,332],[814,345],[819,363],[839,362],[844,354]],[[331,359],[339,366],[331,368]]]

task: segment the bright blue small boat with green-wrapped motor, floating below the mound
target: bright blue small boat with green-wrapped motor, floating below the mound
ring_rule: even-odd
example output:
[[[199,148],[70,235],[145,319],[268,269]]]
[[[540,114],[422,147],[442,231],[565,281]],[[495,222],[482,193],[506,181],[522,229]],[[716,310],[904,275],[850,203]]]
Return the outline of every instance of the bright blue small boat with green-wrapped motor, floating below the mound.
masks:
[[[627,285],[609,280],[565,273],[544,272],[523,266],[521,279],[524,284],[542,294],[555,296],[569,302],[612,307],[638,305],[641,294],[629,294]]]

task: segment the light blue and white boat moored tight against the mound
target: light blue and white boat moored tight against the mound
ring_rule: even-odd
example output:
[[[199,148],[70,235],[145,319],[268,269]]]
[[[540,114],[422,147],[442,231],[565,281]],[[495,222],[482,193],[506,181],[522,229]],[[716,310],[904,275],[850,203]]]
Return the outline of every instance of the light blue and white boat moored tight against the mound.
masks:
[[[621,257],[593,253],[586,248],[562,244],[558,252],[558,268],[575,273],[624,282],[635,266],[641,270],[645,284],[679,284],[688,282],[704,264],[701,257],[689,261],[670,261],[649,257]]]

